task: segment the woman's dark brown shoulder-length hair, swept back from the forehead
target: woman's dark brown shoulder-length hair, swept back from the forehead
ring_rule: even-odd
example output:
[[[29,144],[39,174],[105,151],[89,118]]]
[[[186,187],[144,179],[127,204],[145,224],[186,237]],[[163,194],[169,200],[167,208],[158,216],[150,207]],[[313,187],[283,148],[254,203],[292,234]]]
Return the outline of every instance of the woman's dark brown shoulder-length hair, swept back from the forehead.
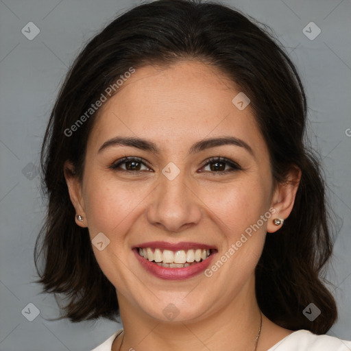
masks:
[[[337,319],[335,300],[324,286],[332,238],[319,161],[305,146],[304,88],[268,27],[218,3],[160,0],[138,5],[107,25],[73,62],[53,106],[41,153],[48,206],[34,252],[38,282],[43,291],[66,298],[62,317],[72,322],[117,317],[116,290],[97,264],[88,229],[75,224],[64,162],[71,161],[74,175],[82,180],[98,110],[82,125],[76,123],[108,86],[131,67],[180,60],[217,68],[250,98],[275,182],[287,182],[291,167],[302,171],[291,215],[279,234],[267,235],[255,271],[256,298],[261,311],[279,326],[326,333]],[[67,131],[73,125],[77,128],[70,136]],[[322,311],[313,322],[302,313],[311,302]]]

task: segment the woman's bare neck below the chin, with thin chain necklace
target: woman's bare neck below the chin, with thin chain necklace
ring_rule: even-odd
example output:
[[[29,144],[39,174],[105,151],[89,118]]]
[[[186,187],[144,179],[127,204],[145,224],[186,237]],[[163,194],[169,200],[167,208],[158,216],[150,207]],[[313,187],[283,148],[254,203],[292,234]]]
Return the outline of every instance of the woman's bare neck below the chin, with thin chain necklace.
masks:
[[[116,343],[114,351],[253,351],[256,346],[261,311],[254,296],[249,300],[243,294],[207,317],[181,322],[161,322],[142,313],[123,295],[118,298],[124,335],[121,348]]]

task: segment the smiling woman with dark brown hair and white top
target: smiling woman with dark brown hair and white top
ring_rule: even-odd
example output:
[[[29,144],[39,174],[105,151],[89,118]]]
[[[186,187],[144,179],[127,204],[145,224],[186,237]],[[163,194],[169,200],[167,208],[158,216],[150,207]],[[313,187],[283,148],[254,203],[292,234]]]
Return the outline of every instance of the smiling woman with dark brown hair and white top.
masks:
[[[264,29],[160,0],[75,60],[43,143],[45,291],[73,322],[119,313],[95,350],[351,350],[320,276],[324,183],[304,89]]]

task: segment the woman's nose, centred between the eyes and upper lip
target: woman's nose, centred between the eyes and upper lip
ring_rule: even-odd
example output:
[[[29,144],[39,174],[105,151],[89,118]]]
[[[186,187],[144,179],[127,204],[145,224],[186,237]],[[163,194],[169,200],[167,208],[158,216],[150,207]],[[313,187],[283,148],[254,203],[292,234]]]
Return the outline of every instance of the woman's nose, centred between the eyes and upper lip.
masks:
[[[182,172],[173,180],[161,174],[147,208],[147,220],[162,230],[180,232],[199,223],[202,215],[200,204]]]

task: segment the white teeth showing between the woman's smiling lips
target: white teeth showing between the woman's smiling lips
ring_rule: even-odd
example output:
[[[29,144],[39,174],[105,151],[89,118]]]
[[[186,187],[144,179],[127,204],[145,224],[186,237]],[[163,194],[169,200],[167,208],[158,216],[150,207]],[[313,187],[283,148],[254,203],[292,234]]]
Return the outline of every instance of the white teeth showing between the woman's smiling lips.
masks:
[[[159,267],[184,268],[205,261],[211,254],[210,249],[164,250],[154,247],[138,247],[139,256]]]

